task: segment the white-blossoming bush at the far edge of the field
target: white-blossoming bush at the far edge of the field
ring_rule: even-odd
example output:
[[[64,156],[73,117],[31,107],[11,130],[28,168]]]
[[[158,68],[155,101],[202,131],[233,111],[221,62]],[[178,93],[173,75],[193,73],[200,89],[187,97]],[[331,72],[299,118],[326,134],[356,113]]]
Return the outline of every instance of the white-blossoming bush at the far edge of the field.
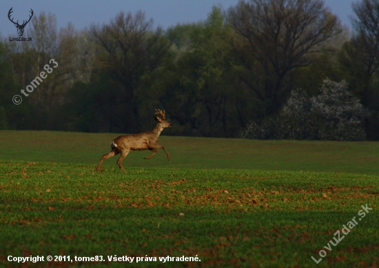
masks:
[[[347,90],[347,82],[324,80],[320,95],[292,91],[276,117],[252,122],[242,135],[250,139],[364,140],[367,109]]]

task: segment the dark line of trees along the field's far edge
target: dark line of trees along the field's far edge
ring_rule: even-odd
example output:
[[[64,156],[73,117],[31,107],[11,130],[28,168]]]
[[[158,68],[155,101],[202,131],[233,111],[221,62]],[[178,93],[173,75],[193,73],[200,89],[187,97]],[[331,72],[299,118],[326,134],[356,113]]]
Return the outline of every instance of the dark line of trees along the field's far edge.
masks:
[[[160,108],[173,125],[166,135],[378,140],[379,0],[353,8],[352,31],[322,0],[241,0],[167,30],[139,11],[58,31],[42,12],[28,27],[32,42],[0,42],[0,129],[136,133]],[[59,67],[13,104],[52,58]],[[326,80],[335,93],[325,93]],[[316,124],[285,112],[296,96],[307,96],[302,107],[346,109],[313,108],[325,115],[308,117],[327,133],[316,135],[301,130]],[[351,99],[362,107],[349,109]],[[301,135],[283,134],[291,123]],[[275,131],[263,135],[268,126]],[[347,128],[359,135],[342,135]]]

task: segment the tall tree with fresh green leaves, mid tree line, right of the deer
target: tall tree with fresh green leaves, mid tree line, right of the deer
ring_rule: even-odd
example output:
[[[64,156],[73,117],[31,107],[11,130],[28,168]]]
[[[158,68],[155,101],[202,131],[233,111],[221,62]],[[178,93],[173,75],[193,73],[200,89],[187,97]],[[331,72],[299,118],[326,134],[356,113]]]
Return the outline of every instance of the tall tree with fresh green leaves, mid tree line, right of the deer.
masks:
[[[204,22],[176,25],[167,31],[172,41],[162,74],[161,98],[178,126],[167,133],[231,137],[236,94],[232,70],[232,28],[220,7]]]

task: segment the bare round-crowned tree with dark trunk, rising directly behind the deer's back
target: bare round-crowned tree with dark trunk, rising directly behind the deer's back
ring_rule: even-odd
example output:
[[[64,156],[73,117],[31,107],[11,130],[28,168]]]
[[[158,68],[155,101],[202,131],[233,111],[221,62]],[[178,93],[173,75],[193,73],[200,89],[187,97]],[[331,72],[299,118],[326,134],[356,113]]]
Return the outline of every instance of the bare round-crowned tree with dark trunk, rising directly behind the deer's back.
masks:
[[[169,48],[160,27],[153,30],[153,21],[141,11],[134,16],[120,12],[110,24],[92,25],[90,31],[99,45],[99,61],[107,74],[123,87],[114,104],[126,104],[133,116],[127,130],[139,126],[139,112],[134,102],[141,77],[156,69]],[[105,52],[105,53],[102,53]],[[101,54],[102,53],[102,54]]]

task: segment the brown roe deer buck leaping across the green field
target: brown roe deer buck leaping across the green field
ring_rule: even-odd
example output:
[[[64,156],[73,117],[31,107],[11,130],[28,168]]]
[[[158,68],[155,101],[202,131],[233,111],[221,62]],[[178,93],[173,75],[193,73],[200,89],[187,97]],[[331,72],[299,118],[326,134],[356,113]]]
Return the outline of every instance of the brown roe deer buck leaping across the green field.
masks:
[[[117,160],[117,165],[119,165],[119,168],[121,168],[121,170],[123,170],[123,172],[126,173],[125,169],[122,166],[122,162],[131,150],[151,150],[154,153],[150,155],[150,157],[144,158],[150,159],[154,155],[156,155],[156,149],[162,148],[167,155],[167,159],[170,161],[170,155],[169,153],[167,153],[165,147],[156,144],[156,141],[158,140],[159,135],[161,135],[163,129],[170,127],[171,123],[166,121],[164,110],[161,111],[159,109],[155,109],[155,111],[156,115],[154,115],[154,119],[158,121],[158,123],[156,124],[156,126],[154,126],[154,129],[152,129],[152,131],[147,131],[134,135],[122,135],[116,137],[116,139],[114,139],[113,142],[110,143],[110,148],[112,149],[110,153],[107,153],[103,155],[103,157],[101,157],[100,163],[96,168],[97,171],[102,171],[101,164],[103,164],[103,161],[105,159],[121,153],[119,160]],[[161,115],[161,118],[157,115]]]

